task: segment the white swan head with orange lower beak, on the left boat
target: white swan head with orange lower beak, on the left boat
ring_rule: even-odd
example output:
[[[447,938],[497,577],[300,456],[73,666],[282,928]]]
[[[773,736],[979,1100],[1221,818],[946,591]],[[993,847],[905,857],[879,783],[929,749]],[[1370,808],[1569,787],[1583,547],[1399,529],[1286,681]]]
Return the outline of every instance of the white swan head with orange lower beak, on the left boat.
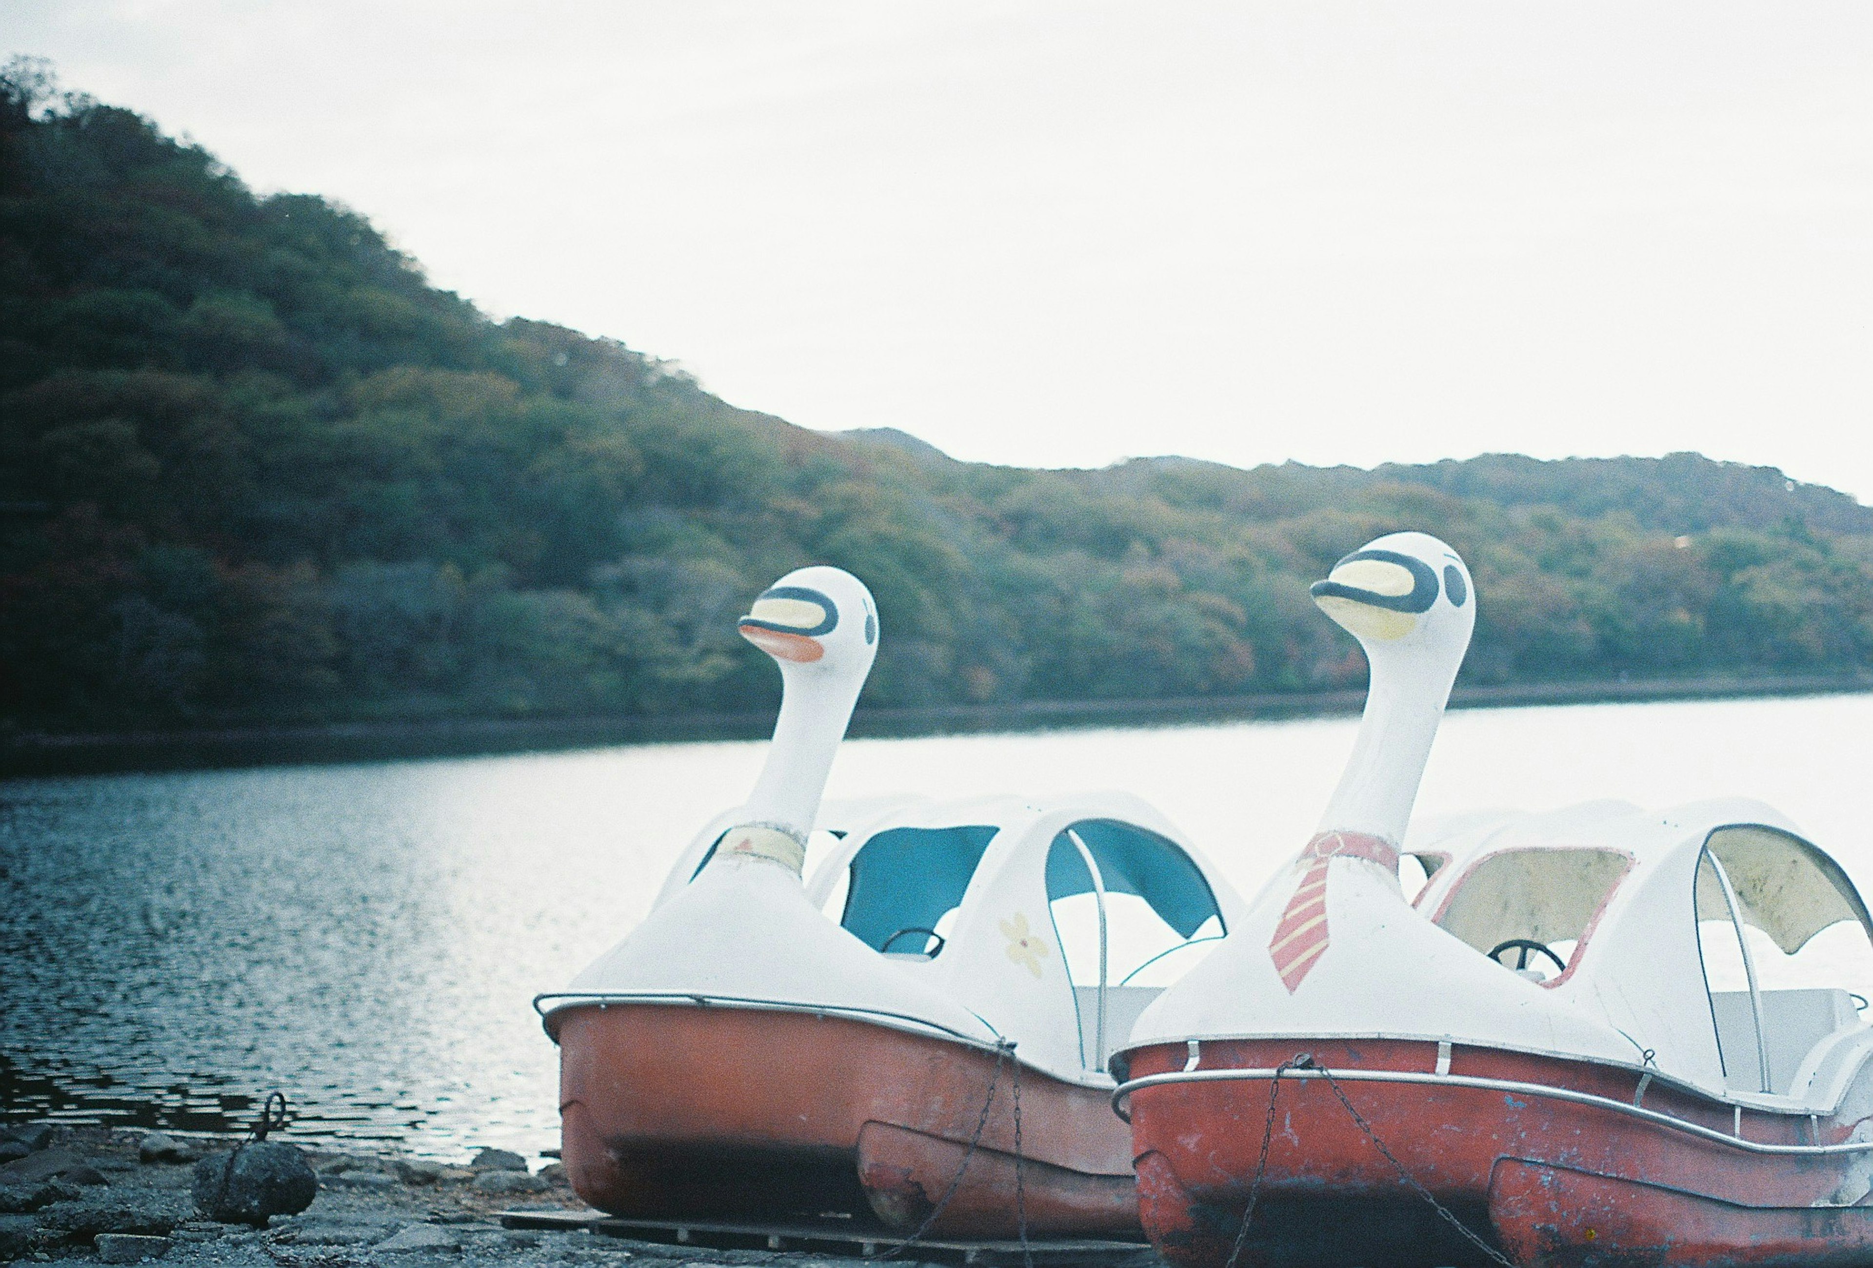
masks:
[[[843,568],[796,568],[747,609],[742,637],[789,671],[865,680],[878,654],[878,607],[865,582]]]

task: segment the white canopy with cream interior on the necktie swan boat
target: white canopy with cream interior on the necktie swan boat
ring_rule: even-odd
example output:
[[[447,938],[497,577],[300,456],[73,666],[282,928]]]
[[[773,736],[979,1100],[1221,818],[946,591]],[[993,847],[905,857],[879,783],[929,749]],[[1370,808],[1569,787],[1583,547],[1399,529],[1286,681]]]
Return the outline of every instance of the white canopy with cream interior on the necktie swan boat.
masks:
[[[1410,845],[1453,856],[1418,897],[1438,929],[1686,1083],[1800,1098],[1826,1073],[1824,1041],[1860,1028],[1851,991],[1873,985],[1854,976],[1873,968],[1873,918],[1845,869],[1768,805],[1594,804]],[[1764,976],[1766,944],[1791,957],[1841,923],[1862,951],[1830,951],[1798,983]]]

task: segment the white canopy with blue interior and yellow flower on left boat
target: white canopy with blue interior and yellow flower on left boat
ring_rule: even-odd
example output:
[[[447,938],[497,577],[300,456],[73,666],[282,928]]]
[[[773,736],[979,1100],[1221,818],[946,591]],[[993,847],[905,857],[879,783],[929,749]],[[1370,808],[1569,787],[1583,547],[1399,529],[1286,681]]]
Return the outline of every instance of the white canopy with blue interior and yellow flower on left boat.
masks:
[[[1161,985],[1223,936],[1227,886],[1122,792],[910,802],[848,833],[807,901],[893,972],[961,1000],[1021,1058],[1105,1079]]]

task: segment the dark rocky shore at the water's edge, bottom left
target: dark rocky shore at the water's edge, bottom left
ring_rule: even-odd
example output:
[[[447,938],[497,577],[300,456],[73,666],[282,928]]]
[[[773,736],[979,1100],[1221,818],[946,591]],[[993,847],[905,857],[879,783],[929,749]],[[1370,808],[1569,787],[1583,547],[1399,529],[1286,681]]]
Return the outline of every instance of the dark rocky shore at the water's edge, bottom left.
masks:
[[[500,1212],[581,1212],[584,1206],[566,1186],[558,1163],[536,1159],[528,1165],[504,1150],[481,1150],[463,1165],[444,1165],[300,1144],[318,1176],[318,1193],[307,1210],[272,1216],[264,1227],[215,1223],[197,1210],[195,1163],[232,1144],[236,1141],[105,1128],[0,1129],[0,1262],[159,1261],[165,1268],[418,1268],[429,1262],[809,1268],[860,1262],[633,1242],[586,1229],[506,1229]],[[892,1262],[912,1268],[916,1257]]]

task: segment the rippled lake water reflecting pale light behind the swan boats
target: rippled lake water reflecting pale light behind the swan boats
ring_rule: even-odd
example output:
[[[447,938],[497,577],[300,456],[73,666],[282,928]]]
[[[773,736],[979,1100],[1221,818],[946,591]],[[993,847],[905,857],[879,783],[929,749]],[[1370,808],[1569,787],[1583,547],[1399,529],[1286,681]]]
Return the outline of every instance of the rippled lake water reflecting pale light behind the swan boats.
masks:
[[[1354,719],[862,740],[832,796],[1158,804],[1246,892],[1302,841]],[[1873,697],[1476,710],[1420,813],[1618,796],[1779,805],[1867,888]],[[461,1157],[558,1143],[528,1000],[642,920],[762,744],[0,783],[0,1113]]]

